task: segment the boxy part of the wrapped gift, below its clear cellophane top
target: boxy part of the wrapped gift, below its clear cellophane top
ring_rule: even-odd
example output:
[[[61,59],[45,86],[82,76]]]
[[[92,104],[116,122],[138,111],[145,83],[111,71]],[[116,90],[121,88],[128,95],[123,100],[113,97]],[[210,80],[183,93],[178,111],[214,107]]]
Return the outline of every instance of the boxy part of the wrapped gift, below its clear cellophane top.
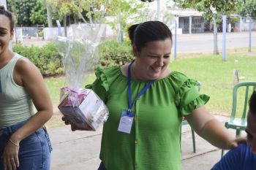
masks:
[[[108,119],[108,108],[90,89],[62,88],[59,110],[65,119],[80,130],[96,131]]]

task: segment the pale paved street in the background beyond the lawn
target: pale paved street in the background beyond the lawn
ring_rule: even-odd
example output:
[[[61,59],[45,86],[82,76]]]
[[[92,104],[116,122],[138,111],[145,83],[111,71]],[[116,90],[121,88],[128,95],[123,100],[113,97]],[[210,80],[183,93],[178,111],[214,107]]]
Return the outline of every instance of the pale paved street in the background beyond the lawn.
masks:
[[[222,33],[218,33],[218,48],[222,50]],[[42,46],[48,41],[38,39],[24,39],[22,42],[26,46]],[[226,34],[226,48],[236,49],[248,47],[249,32],[234,32]],[[252,31],[252,47],[256,46],[256,31]],[[212,53],[214,48],[214,34],[181,34],[177,39],[177,53]]]

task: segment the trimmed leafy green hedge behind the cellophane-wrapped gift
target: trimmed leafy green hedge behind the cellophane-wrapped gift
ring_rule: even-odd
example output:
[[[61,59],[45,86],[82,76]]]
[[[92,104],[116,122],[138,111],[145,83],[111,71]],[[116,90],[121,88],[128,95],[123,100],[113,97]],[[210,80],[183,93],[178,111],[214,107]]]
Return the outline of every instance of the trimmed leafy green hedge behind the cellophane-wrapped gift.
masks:
[[[56,76],[64,73],[64,67],[61,62],[61,55],[53,42],[48,43],[42,47],[27,47],[16,44],[13,47],[13,51],[34,63],[42,73],[44,77],[46,76]],[[129,42],[119,43],[115,40],[103,42],[99,45],[99,63],[103,69],[110,66],[121,66],[125,63],[132,61],[132,47]]]

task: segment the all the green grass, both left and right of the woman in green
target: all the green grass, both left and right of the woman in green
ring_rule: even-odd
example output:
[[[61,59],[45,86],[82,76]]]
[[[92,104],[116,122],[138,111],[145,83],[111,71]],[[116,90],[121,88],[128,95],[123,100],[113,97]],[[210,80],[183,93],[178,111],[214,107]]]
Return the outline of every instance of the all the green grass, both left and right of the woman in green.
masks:
[[[206,104],[208,110],[217,115],[230,116],[233,90],[233,70],[238,69],[239,77],[244,76],[242,81],[256,81],[256,54],[234,53],[227,55],[226,61],[222,61],[222,55],[178,55],[178,59],[171,61],[170,69],[182,72],[188,77],[198,80],[202,84],[200,93],[211,96]],[[91,74],[84,85],[95,80]],[[48,127],[64,125],[61,114],[56,109],[59,103],[60,88],[67,86],[64,77],[46,78],[50,97],[53,101],[55,114],[47,123]],[[238,102],[239,103],[239,102]]]

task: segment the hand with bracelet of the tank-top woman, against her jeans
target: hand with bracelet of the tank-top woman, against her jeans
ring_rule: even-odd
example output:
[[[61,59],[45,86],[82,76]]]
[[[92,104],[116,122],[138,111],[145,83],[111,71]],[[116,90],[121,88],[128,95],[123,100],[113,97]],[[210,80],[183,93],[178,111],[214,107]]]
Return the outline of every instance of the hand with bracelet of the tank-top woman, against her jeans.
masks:
[[[3,158],[4,170],[16,170],[20,166],[18,159],[19,149],[19,144],[12,142],[12,139],[9,139],[7,145],[4,147],[4,153],[1,155],[1,158]]]

